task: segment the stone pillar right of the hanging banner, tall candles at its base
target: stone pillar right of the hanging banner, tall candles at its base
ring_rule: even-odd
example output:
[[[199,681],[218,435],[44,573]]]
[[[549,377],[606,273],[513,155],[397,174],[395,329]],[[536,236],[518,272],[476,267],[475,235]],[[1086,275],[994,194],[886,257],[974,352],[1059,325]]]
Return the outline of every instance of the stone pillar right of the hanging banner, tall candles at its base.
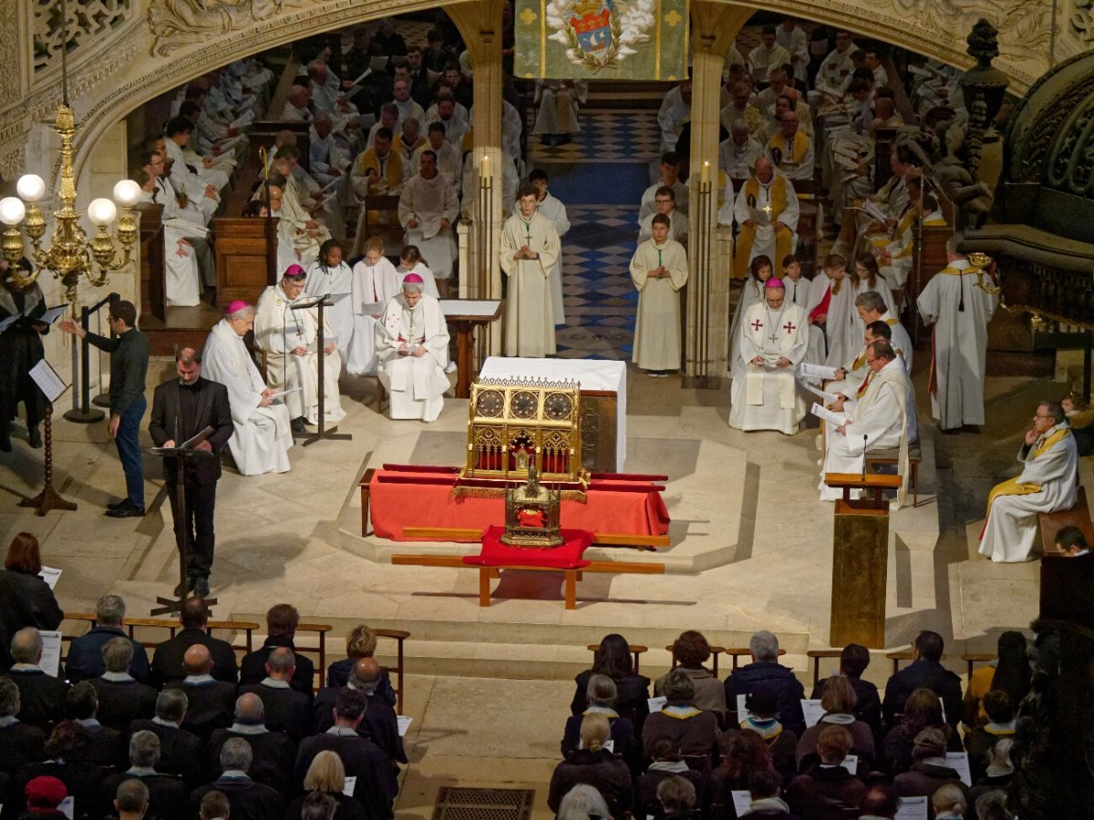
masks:
[[[719,115],[725,52],[752,13],[750,8],[731,3],[691,3],[691,271],[687,285],[685,387],[718,388],[729,371],[730,276],[723,247],[729,237],[719,241],[717,216]]]

